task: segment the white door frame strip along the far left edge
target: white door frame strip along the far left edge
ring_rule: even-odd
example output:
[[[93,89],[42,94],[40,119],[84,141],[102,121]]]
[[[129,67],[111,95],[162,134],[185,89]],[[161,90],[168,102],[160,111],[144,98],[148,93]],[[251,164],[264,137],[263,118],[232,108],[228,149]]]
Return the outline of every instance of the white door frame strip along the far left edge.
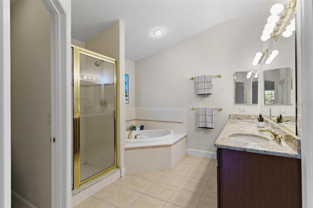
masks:
[[[0,207],[11,207],[10,1],[0,1]]]

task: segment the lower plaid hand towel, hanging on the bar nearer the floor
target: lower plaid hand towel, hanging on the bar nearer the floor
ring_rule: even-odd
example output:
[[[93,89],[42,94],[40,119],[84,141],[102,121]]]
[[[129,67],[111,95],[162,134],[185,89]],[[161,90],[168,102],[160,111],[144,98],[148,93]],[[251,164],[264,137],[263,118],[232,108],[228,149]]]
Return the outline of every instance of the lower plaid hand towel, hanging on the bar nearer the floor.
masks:
[[[213,107],[198,109],[198,128],[214,128]]]

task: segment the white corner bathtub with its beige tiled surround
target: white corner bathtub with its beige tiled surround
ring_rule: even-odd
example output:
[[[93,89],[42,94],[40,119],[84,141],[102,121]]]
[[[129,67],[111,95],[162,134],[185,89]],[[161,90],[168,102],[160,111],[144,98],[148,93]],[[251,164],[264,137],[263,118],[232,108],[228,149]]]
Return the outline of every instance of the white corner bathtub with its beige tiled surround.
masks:
[[[128,135],[126,131],[127,174],[169,169],[186,155],[186,135],[171,129],[132,131],[131,139],[127,139]]]

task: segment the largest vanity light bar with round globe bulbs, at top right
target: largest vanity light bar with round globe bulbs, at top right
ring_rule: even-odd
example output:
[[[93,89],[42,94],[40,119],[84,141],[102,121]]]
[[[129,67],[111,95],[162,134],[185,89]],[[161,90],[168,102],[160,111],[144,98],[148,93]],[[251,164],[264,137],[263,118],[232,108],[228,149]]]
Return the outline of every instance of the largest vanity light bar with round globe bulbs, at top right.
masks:
[[[296,0],[291,0],[288,4],[276,3],[270,8],[271,15],[268,17],[268,23],[264,26],[262,41],[272,38],[277,42],[281,36],[288,38],[292,35],[295,30],[295,20],[292,19],[295,6]]]

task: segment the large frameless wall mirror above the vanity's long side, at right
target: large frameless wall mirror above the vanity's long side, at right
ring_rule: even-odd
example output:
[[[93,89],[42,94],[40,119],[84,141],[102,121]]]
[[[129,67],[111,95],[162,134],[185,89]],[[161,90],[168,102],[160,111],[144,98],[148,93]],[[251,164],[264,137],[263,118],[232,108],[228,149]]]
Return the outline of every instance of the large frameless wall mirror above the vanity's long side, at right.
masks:
[[[288,2],[289,0],[264,1],[261,11],[262,30],[267,24],[271,7],[276,3],[286,4]],[[296,14],[293,17],[295,18],[293,21],[296,28]],[[261,89],[259,97],[261,102],[259,104],[261,105],[261,113],[263,115],[273,119],[282,114],[284,127],[289,128],[297,136],[301,136],[301,120],[297,120],[301,114],[301,109],[296,104],[301,96],[299,93],[300,89],[297,88],[299,76],[296,76],[298,70],[296,65],[296,30],[290,33],[290,35],[290,37],[289,35],[281,36],[277,42],[272,38],[267,41],[261,41],[261,50],[264,51],[266,48],[269,51],[278,50],[279,54],[270,64],[257,65],[257,69],[260,72],[262,71],[263,75],[263,77],[260,75],[262,81],[259,85]],[[286,75],[284,78],[283,74]],[[273,122],[276,123],[276,119]]]

